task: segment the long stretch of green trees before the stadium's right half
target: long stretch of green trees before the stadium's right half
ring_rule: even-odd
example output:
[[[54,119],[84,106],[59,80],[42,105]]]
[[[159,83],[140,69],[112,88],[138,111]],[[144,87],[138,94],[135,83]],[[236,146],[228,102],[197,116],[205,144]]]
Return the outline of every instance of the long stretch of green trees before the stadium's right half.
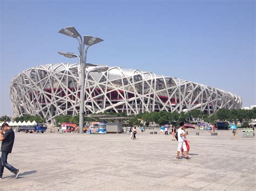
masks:
[[[256,108],[251,110],[244,109],[224,109],[221,108],[212,115],[204,114],[199,110],[192,110],[187,112],[146,112],[134,116],[134,119],[129,121],[129,125],[145,125],[149,126],[150,123],[155,123],[157,126],[164,124],[172,124],[178,122],[196,124],[199,122],[217,123],[217,122],[230,122],[235,125],[240,122],[242,126],[247,126],[251,119],[256,119]],[[142,121],[144,124],[142,124]]]

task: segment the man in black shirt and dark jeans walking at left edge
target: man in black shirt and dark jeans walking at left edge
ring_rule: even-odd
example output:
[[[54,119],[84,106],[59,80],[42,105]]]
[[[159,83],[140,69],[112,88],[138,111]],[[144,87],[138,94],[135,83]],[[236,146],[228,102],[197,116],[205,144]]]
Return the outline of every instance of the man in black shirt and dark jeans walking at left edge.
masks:
[[[12,173],[15,174],[15,179],[17,178],[19,174],[19,169],[16,169],[15,167],[11,166],[7,162],[7,157],[8,154],[11,153],[12,147],[14,146],[14,131],[10,128],[8,123],[3,123],[2,124],[2,130],[5,131],[3,132],[0,130],[0,140],[2,141],[2,146],[1,146],[1,151],[2,155],[0,158],[1,164],[0,164],[0,179],[2,179],[3,172],[4,172],[4,167],[9,169]]]

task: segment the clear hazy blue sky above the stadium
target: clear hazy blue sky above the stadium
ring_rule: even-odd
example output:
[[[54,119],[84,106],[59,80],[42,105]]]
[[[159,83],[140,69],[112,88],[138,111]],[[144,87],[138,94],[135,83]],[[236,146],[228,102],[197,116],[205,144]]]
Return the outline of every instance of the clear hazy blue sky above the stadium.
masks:
[[[27,68],[77,62],[75,26],[104,39],[87,62],[179,77],[241,96],[255,105],[255,2],[1,1],[0,116],[12,115],[9,84]]]

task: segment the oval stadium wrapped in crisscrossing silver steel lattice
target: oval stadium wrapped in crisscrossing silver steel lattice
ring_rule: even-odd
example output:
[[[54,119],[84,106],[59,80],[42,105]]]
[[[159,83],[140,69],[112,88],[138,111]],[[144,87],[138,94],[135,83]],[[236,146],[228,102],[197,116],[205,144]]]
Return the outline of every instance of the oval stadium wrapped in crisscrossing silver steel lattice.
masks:
[[[86,71],[97,67],[88,66]],[[9,88],[14,116],[41,115],[53,122],[58,115],[78,115],[78,74],[78,63],[40,65],[19,73]],[[230,92],[142,70],[109,67],[106,72],[90,72],[87,77],[86,114],[194,109],[212,114],[220,108],[237,109],[242,105],[241,98]]]

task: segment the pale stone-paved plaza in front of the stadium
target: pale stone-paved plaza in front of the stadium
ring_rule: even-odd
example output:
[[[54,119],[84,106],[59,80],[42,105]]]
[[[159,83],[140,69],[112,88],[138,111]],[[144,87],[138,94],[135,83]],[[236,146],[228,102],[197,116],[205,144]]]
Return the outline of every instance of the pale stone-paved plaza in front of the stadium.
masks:
[[[151,135],[150,131],[157,131]],[[200,132],[196,136],[196,132]],[[256,190],[255,138],[188,129],[190,160],[159,130],[129,134],[16,133],[0,190]]]

